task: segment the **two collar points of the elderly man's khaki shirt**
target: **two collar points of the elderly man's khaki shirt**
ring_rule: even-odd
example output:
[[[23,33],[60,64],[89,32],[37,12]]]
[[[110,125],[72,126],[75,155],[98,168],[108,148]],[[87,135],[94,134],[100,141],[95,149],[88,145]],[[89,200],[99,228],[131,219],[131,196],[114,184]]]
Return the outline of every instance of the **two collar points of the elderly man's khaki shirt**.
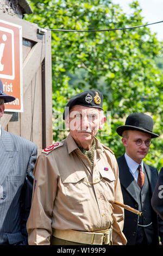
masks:
[[[96,137],[95,137],[95,141],[96,141],[95,150],[97,150],[98,153],[102,153],[104,151],[102,144],[98,141]],[[68,147],[68,154],[72,153],[72,151],[76,149],[79,149],[77,143],[74,141],[73,137],[71,136],[71,133],[69,133],[69,135],[67,136],[66,142]]]

